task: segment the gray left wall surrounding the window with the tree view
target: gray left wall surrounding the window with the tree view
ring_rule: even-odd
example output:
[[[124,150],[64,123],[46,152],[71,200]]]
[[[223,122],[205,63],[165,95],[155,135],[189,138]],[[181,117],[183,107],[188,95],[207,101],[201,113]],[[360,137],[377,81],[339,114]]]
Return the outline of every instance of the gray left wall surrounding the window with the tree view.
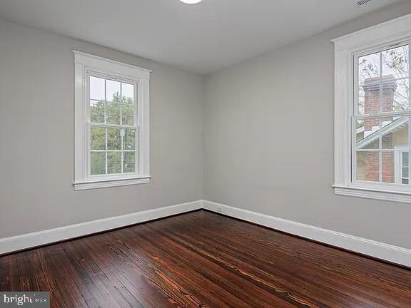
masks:
[[[72,49],[153,70],[147,185],[75,192]],[[202,197],[203,78],[0,21],[0,238]]]

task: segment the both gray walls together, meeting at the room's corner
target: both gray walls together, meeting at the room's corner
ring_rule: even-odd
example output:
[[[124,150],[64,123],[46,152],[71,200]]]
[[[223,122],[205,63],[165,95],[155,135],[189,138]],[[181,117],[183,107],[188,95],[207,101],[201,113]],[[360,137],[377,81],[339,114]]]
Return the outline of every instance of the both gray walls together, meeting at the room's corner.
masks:
[[[330,39],[403,1],[203,78],[0,21],[0,238],[209,200],[411,248],[410,205],[333,194]],[[72,49],[153,70],[147,185],[73,190]]]

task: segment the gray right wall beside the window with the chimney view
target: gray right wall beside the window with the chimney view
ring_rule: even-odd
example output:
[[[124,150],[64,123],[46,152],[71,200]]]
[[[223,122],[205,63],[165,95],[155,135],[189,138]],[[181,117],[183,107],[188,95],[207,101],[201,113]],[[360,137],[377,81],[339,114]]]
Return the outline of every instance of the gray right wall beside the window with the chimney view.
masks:
[[[331,188],[330,39],[408,13],[405,1],[208,76],[205,200],[411,248],[411,205]]]

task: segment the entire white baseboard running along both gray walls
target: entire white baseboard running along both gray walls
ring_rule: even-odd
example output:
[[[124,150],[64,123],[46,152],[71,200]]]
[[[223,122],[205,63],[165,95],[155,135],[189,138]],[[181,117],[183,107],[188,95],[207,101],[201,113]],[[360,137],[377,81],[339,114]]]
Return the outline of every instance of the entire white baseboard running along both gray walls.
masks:
[[[322,229],[311,225],[305,225],[300,222],[284,220],[282,218],[273,217],[270,215],[260,214],[243,210],[238,207],[230,207],[215,202],[206,200],[198,200],[169,207],[160,207],[155,210],[146,210],[143,212],[134,212],[127,215],[116,217],[108,217],[101,220],[91,222],[83,222],[77,225],[68,225],[66,227],[58,227],[55,229],[44,230],[40,232],[28,233],[25,235],[17,235],[14,237],[6,237],[0,239],[0,255],[8,252],[16,252],[25,250],[31,247],[60,242],[84,235],[91,235],[97,232],[116,229],[118,227],[126,227],[140,222],[156,220],[158,218],[168,217],[171,215],[182,214],[193,210],[210,210],[220,212],[223,215],[235,217],[248,222],[254,222],[258,225],[270,227],[275,230],[288,232],[292,235],[298,235],[310,240],[323,242],[325,244],[341,247],[347,250],[360,252],[364,255],[377,257],[381,260],[387,260],[400,265],[411,267],[411,250],[388,245],[382,242],[367,240],[353,235],[347,235],[332,230]]]

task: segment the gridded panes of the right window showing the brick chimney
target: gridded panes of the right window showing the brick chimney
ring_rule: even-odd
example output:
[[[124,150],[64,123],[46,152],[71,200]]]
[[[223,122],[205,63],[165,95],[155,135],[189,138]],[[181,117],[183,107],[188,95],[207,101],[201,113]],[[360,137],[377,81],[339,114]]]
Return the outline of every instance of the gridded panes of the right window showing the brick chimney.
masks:
[[[410,185],[402,156],[411,150],[410,44],[357,55],[354,63],[352,182]]]

